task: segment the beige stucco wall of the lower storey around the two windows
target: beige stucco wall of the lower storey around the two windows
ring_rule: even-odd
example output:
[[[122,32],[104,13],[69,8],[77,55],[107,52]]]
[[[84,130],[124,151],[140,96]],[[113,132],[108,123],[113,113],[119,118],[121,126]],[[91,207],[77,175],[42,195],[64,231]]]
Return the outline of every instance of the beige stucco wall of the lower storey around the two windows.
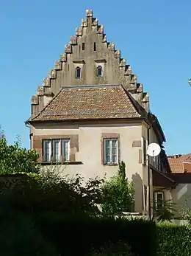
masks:
[[[135,184],[135,210],[143,210],[143,165],[139,163],[140,147],[132,147],[134,141],[142,136],[142,125],[136,123],[123,124],[97,124],[97,125],[63,125],[49,124],[46,128],[35,125],[34,136],[40,135],[67,135],[79,134],[79,152],[76,161],[82,161],[83,165],[67,165],[60,168],[63,175],[73,176],[76,173],[85,179],[95,176],[112,177],[118,171],[118,166],[101,165],[101,134],[120,134],[120,161],[126,164],[126,176]],[[47,167],[46,167],[47,168]]]

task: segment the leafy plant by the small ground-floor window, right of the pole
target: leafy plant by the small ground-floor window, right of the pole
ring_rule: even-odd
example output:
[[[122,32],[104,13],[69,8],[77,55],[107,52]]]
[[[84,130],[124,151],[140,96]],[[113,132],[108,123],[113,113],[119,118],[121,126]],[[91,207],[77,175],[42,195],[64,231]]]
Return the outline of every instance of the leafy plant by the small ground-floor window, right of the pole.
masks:
[[[156,209],[156,204],[158,203],[158,207]],[[156,221],[170,221],[173,219],[176,210],[174,209],[174,203],[171,200],[161,200],[154,201],[154,218]]]

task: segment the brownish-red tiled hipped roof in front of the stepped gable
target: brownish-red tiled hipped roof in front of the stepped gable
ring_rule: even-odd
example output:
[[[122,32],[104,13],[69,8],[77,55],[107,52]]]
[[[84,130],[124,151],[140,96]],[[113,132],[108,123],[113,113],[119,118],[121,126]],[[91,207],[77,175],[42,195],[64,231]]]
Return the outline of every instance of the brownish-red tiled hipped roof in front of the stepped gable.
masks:
[[[140,114],[123,86],[73,86],[60,90],[32,121],[135,117]]]

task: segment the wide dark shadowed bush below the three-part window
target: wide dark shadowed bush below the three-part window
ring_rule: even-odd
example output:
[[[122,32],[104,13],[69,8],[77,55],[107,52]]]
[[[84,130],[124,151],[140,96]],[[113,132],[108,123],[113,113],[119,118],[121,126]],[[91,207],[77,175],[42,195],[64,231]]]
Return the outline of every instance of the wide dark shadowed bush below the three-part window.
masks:
[[[97,214],[101,193],[99,179],[89,180],[82,186],[80,176],[69,180],[56,172],[29,173],[24,186],[15,186],[11,193],[11,204],[29,212],[59,211],[88,212]]]

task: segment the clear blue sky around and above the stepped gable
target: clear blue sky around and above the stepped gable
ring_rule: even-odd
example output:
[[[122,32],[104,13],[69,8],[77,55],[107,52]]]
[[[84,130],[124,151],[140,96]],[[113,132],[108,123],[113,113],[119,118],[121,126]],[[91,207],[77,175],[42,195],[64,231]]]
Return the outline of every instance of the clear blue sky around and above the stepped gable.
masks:
[[[29,148],[32,94],[75,35],[85,10],[104,24],[165,131],[168,154],[190,153],[191,1],[6,0],[0,9],[0,124],[8,142]]]

